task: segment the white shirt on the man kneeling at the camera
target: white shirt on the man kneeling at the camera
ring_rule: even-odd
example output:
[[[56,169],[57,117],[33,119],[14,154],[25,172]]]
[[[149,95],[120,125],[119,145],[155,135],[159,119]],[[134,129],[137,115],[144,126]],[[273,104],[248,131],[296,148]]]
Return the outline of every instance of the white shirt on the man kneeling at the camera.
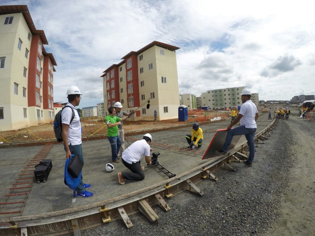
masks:
[[[124,150],[121,157],[127,163],[132,164],[133,162],[141,160],[143,155],[150,156],[150,145],[146,142],[146,140],[141,139],[135,141],[129,146],[129,148]]]

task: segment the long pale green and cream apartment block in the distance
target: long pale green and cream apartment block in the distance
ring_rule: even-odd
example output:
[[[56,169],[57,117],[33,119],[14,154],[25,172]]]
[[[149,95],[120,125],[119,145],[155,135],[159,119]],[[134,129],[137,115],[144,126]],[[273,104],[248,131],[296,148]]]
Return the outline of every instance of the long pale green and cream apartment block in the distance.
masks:
[[[210,110],[221,110],[242,105],[241,93],[246,87],[231,87],[207,90],[201,94],[202,106],[209,106]],[[258,101],[257,101],[258,104]]]

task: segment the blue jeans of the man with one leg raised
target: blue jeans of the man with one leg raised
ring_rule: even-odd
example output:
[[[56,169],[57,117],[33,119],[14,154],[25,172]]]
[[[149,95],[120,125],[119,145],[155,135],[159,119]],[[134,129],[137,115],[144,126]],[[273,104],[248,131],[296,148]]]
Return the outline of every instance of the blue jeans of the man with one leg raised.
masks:
[[[254,144],[254,137],[255,137],[256,128],[245,128],[245,126],[238,126],[234,129],[231,129],[227,132],[225,143],[223,144],[222,150],[227,151],[228,147],[232,142],[232,138],[234,135],[242,135],[245,134],[245,138],[247,140],[247,144],[249,146],[249,158],[248,162],[252,163],[255,156],[255,144]]]

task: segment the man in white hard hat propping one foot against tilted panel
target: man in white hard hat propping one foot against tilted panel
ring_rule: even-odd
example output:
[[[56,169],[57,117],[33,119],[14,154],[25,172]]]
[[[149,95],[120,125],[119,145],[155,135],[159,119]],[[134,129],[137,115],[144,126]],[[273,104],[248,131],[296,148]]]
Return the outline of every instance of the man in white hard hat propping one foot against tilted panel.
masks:
[[[249,146],[249,158],[248,160],[245,160],[244,163],[248,166],[252,166],[255,156],[254,138],[257,129],[256,121],[258,119],[257,107],[255,103],[250,100],[250,97],[250,90],[248,88],[244,88],[241,93],[241,99],[243,102],[241,110],[239,111],[238,116],[235,118],[235,120],[229,126],[227,126],[226,130],[228,132],[223,147],[219,151],[215,151],[215,153],[218,155],[226,154],[227,149],[232,142],[233,136],[244,134]],[[232,126],[236,125],[238,121],[241,125],[232,129]]]

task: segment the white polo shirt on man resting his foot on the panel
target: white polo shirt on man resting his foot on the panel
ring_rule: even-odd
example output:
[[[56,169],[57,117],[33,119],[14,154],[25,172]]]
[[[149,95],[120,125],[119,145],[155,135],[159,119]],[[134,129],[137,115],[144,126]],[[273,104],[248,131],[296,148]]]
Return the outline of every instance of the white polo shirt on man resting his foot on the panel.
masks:
[[[257,107],[252,100],[247,100],[242,106],[239,114],[243,115],[240,119],[240,124],[245,128],[257,128],[255,115],[258,113]]]

